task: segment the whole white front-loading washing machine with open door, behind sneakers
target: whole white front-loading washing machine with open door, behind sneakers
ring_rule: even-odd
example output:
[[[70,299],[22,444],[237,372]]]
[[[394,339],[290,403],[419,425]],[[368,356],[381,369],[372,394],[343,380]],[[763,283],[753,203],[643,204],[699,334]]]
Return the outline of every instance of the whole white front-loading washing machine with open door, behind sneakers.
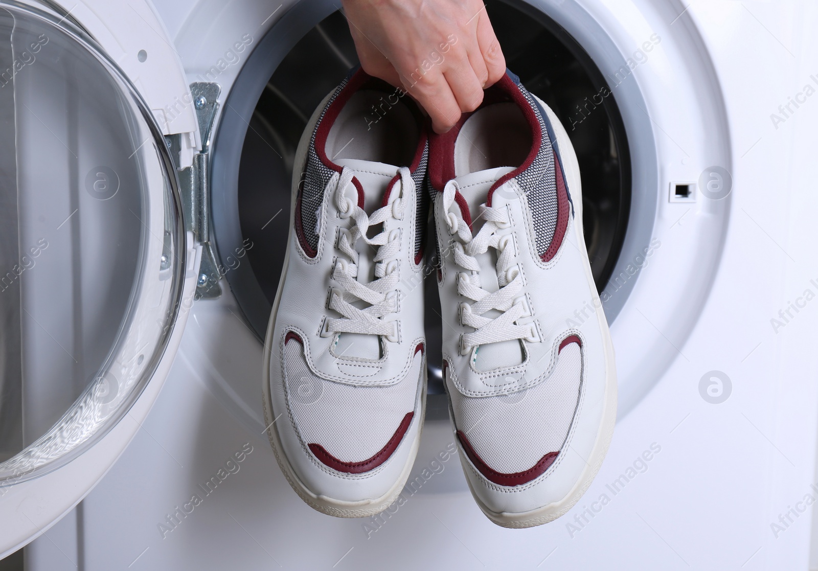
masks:
[[[321,515],[267,443],[295,146],[357,65],[338,8],[0,2],[0,553],[34,571],[818,569],[818,7],[487,3],[577,151],[619,379],[595,482],[524,530],[480,513],[452,454],[434,281],[398,501]]]

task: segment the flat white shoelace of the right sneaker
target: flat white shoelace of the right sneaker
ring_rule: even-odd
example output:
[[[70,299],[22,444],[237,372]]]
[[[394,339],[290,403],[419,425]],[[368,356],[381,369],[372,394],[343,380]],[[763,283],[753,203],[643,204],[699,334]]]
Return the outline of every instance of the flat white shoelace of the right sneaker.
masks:
[[[443,187],[443,211],[446,212],[446,223],[449,234],[457,236],[454,241],[455,263],[470,272],[457,274],[457,293],[474,299],[474,303],[461,303],[461,324],[474,327],[474,331],[463,335],[461,354],[470,353],[471,348],[498,341],[511,339],[536,340],[537,333],[533,323],[515,325],[520,317],[528,315],[527,304],[520,297],[523,289],[523,277],[519,266],[514,263],[515,246],[509,234],[498,235],[498,230],[510,227],[508,211],[505,208],[491,208],[481,205],[480,218],[485,222],[476,236],[472,236],[469,225],[448,211],[454,204],[459,186],[449,181]],[[489,248],[497,250],[497,291],[483,290],[480,286],[480,266],[475,258],[484,254]],[[483,317],[483,314],[496,309],[502,314],[498,317]]]

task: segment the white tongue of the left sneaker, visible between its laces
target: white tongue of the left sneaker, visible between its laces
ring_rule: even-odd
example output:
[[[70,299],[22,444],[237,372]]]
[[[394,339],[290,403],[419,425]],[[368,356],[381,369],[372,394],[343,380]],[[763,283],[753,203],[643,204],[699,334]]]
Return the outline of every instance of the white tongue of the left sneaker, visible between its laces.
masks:
[[[335,164],[355,171],[355,178],[363,187],[363,209],[366,210],[366,214],[370,215],[383,204],[384,192],[389,187],[389,181],[398,173],[398,167],[392,164],[377,163],[371,160],[337,159]],[[358,281],[373,281],[375,264],[371,263],[371,259],[375,250],[362,240],[358,240],[356,246],[357,251],[362,254],[358,264]],[[343,357],[377,361],[380,359],[380,339],[378,335],[341,333],[336,338],[333,353]]]

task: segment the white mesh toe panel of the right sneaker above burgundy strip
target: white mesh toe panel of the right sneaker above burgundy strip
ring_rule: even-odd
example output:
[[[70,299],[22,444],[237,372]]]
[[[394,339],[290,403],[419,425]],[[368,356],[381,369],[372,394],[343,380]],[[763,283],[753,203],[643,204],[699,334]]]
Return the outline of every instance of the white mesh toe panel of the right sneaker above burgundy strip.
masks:
[[[493,470],[528,470],[568,436],[582,386],[582,353],[567,345],[551,377],[532,389],[499,397],[464,397],[450,387],[457,429]]]

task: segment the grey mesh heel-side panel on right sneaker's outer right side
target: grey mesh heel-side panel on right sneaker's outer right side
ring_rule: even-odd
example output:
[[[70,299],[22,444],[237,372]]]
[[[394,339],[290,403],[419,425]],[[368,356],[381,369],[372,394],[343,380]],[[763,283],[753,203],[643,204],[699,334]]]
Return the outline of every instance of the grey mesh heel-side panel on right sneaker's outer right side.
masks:
[[[542,144],[533,163],[515,177],[519,187],[528,196],[528,205],[534,222],[534,233],[537,242],[537,254],[545,254],[557,226],[558,197],[554,151],[551,138],[548,137],[546,122],[542,119],[537,102],[526,88],[519,85],[520,92],[537,115],[542,128]]]

